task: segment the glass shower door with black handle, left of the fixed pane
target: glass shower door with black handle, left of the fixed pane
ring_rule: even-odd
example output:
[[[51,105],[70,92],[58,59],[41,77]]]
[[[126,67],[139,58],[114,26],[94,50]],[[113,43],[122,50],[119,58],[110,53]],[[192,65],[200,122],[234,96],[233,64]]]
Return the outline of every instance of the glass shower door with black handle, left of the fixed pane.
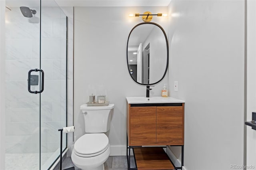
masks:
[[[6,170],[40,166],[40,94],[29,93],[28,71],[40,69],[40,0],[6,0]],[[39,72],[31,91],[40,91]]]

